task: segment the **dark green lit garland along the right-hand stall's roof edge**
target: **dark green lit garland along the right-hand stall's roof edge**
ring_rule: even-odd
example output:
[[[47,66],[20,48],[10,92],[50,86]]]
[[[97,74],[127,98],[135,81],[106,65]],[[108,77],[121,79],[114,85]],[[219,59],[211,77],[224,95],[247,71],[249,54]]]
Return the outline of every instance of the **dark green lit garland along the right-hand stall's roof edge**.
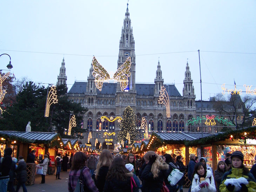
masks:
[[[246,135],[244,133],[247,133]],[[231,137],[231,135],[233,137]],[[230,131],[226,131],[223,133],[214,134],[208,137],[203,137],[197,140],[192,141],[185,141],[186,146],[191,145],[204,145],[204,144],[210,144],[217,141],[224,141],[225,139],[231,139],[231,140],[245,140],[247,138],[250,139],[256,139],[256,127],[246,127],[246,128],[240,128],[240,129],[234,129]]]

